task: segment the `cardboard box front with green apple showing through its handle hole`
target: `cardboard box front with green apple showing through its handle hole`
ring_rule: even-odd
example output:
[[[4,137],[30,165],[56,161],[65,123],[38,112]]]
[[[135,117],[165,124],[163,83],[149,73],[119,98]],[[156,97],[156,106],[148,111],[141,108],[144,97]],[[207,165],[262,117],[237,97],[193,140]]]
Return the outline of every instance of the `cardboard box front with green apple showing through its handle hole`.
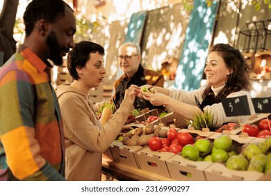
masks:
[[[171,178],[183,181],[205,181],[204,170],[213,164],[213,162],[191,161],[181,155],[174,155],[167,159],[166,163]]]

